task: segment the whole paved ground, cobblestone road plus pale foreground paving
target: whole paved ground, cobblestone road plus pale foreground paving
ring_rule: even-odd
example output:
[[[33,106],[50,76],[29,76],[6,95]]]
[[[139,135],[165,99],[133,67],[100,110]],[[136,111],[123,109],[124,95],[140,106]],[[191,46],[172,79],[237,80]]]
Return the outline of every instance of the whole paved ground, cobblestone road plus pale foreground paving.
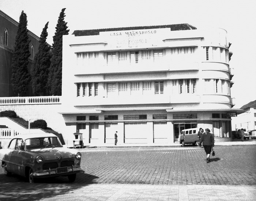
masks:
[[[204,149],[195,146],[79,150],[85,174],[77,174],[74,183],[59,177],[27,184],[22,177],[4,176],[1,168],[0,200],[2,196],[25,200],[10,196],[17,189],[27,196],[31,191],[26,189],[34,189],[30,200],[37,200],[33,194],[44,195],[43,200],[72,200],[70,196],[76,200],[150,200],[152,195],[158,195],[156,200],[166,200],[166,196],[172,200],[253,200],[256,196],[256,145],[215,146],[210,163]]]

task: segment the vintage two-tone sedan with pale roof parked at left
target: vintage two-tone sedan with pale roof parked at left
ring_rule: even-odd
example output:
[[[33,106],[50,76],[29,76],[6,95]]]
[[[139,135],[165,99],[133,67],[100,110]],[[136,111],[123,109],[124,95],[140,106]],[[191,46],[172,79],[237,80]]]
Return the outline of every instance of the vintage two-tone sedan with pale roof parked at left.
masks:
[[[81,153],[62,146],[51,133],[22,134],[11,139],[7,149],[0,149],[0,162],[4,174],[26,177],[30,183],[35,178],[67,176],[70,182],[80,167]]]

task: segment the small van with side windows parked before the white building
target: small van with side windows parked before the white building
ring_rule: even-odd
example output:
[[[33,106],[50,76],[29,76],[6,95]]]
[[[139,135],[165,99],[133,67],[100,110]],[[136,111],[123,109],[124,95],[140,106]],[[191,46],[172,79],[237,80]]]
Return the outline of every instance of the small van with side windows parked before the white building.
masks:
[[[198,131],[199,131],[199,128],[182,130],[180,133],[180,144],[182,146],[185,146],[185,144],[198,145],[199,144],[199,138],[197,137]]]

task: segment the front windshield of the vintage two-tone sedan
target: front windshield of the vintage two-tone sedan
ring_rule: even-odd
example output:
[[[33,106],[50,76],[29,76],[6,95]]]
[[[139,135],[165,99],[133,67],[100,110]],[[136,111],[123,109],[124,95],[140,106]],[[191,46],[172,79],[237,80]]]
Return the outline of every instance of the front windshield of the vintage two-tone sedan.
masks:
[[[57,137],[29,138],[25,141],[26,150],[62,147]]]

